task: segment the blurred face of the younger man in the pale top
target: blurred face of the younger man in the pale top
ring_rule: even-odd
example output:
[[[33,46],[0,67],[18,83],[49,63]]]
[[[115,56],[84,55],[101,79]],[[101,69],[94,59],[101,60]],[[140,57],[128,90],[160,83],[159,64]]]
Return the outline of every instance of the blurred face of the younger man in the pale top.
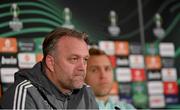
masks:
[[[88,59],[86,83],[89,84],[96,96],[109,94],[113,84],[111,62],[105,55],[93,55]]]

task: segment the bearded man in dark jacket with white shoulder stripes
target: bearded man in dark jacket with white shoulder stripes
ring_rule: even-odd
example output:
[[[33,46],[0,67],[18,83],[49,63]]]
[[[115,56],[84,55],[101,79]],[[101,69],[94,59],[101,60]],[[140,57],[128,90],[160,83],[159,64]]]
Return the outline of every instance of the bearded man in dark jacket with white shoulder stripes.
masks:
[[[84,84],[89,57],[87,36],[57,28],[43,42],[43,61],[15,74],[1,101],[4,109],[97,109]]]

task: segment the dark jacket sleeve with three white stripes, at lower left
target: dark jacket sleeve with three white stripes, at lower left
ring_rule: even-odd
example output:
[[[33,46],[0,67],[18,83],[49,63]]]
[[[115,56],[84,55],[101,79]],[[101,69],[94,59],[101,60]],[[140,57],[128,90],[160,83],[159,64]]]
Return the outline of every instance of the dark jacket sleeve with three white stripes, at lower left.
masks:
[[[3,109],[28,109],[36,108],[33,99],[28,93],[32,84],[27,80],[19,84],[13,84],[1,98],[1,108]]]

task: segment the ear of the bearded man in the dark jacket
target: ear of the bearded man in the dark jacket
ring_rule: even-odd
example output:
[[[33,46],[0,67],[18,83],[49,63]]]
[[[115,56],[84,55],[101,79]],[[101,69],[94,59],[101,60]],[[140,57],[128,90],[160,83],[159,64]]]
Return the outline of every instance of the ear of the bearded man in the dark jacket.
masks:
[[[46,56],[46,67],[49,71],[54,72],[54,58],[51,55]]]

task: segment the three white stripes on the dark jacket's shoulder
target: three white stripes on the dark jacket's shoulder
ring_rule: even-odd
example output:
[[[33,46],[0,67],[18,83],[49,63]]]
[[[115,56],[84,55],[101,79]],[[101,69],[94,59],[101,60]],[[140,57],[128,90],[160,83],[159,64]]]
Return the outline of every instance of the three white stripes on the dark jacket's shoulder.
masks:
[[[32,84],[30,83],[30,81],[27,80],[24,80],[23,82],[17,85],[14,95],[13,109],[20,109],[20,107],[24,108],[26,92],[27,92],[26,89],[31,86]]]

